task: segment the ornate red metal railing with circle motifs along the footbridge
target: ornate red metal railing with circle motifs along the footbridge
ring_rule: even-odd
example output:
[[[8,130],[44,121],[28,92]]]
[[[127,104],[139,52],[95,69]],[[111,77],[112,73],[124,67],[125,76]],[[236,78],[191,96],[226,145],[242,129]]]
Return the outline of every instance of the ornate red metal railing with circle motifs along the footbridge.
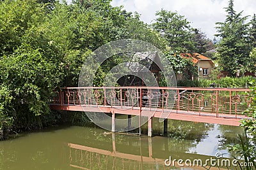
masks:
[[[163,112],[193,111],[239,115],[252,103],[249,89],[191,87],[66,87],[55,92],[52,104],[111,107]]]

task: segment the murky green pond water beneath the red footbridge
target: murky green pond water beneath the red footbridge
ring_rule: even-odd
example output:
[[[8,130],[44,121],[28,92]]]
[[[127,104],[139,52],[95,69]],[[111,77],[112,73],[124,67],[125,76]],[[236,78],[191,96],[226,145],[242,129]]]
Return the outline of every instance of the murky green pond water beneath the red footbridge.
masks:
[[[143,130],[147,131],[147,129]],[[105,132],[95,127],[54,127],[0,142],[0,169],[204,169],[165,166],[164,160],[231,157],[240,127],[154,120],[152,138]],[[158,135],[158,136],[156,136]]]

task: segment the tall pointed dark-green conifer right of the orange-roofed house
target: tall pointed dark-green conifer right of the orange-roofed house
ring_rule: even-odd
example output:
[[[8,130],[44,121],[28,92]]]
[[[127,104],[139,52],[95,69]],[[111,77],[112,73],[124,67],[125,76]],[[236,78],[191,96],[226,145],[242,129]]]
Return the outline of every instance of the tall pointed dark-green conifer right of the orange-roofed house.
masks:
[[[248,45],[248,17],[242,17],[243,11],[236,13],[234,0],[230,0],[225,8],[227,16],[225,22],[217,22],[217,34],[221,38],[218,44],[218,56],[223,71],[235,76],[237,70],[247,71],[250,63],[250,46]]]

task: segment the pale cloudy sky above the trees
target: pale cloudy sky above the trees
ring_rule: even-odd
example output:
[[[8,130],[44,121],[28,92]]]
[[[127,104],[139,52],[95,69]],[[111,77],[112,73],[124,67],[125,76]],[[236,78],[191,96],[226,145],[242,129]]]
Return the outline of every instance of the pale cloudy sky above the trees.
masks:
[[[225,20],[225,7],[228,0],[113,0],[113,6],[124,6],[126,11],[137,11],[141,20],[147,24],[156,18],[156,11],[177,11],[191,22],[192,27],[201,29],[208,38],[213,39],[216,34],[216,22]],[[255,0],[234,0],[234,9],[243,11],[243,16],[256,13]],[[251,20],[249,17],[249,20]]]

